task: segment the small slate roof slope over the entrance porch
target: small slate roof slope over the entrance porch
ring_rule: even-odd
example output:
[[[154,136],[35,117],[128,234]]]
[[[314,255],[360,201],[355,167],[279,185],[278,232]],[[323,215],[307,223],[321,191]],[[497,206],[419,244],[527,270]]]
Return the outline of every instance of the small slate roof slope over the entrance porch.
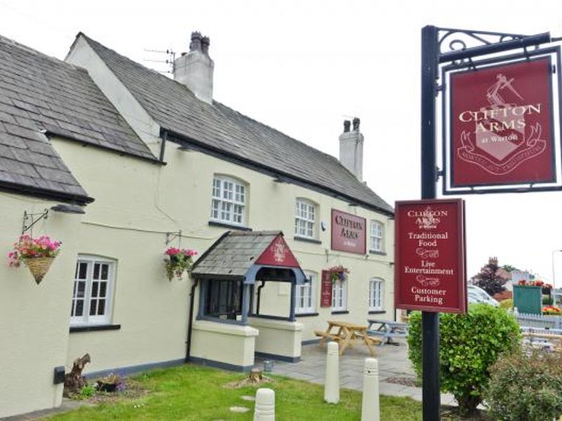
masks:
[[[280,231],[228,231],[193,265],[192,275],[244,276]]]

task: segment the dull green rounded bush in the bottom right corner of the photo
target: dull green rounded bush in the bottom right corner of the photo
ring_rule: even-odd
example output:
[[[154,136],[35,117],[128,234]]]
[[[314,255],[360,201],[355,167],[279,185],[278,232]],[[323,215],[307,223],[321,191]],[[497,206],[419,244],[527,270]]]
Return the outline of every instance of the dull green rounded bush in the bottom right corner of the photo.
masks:
[[[516,352],[490,369],[485,393],[492,420],[551,421],[562,415],[562,355]]]

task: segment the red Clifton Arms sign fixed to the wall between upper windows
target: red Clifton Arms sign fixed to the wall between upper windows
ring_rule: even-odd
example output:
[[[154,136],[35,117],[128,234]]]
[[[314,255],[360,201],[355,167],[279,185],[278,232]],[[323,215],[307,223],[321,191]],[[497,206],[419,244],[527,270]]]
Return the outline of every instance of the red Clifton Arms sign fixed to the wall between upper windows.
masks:
[[[332,209],[332,250],[365,254],[367,220]]]

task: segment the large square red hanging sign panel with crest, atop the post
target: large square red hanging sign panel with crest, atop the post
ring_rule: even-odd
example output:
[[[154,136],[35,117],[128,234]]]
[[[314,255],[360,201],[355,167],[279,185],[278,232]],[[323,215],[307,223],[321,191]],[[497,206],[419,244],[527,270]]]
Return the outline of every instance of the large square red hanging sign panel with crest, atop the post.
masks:
[[[451,186],[556,181],[549,57],[450,76]]]

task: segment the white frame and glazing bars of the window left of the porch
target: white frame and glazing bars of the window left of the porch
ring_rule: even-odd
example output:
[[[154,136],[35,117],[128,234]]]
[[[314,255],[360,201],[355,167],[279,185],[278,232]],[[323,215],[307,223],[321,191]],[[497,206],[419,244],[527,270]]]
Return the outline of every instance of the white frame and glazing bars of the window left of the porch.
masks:
[[[78,278],[78,266],[81,263],[86,263],[86,279]],[[92,286],[94,281],[104,281],[102,279],[93,279],[94,265],[109,265],[107,270],[107,284],[105,287],[105,307],[104,314],[90,316],[90,306],[92,299]],[[101,268],[100,268],[101,271]],[[115,289],[115,274],[117,273],[117,261],[109,258],[103,258],[96,255],[78,255],[76,268],[74,269],[74,281],[72,287],[72,305],[70,310],[70,324],[71,326],[84,326],[84,325],[103,325],[110,324],[113,313],[113,290]],[[101,275],[101,272],[100,272]],[[99,276],[100,276],[99,275]],[[74,309],[76,302],[80,299],[77,297],[78,282],[85,281],[84,288],[84,307],[81,316],[74,316]],[[100,283],[98,282],[98,293],[100,292]]]

